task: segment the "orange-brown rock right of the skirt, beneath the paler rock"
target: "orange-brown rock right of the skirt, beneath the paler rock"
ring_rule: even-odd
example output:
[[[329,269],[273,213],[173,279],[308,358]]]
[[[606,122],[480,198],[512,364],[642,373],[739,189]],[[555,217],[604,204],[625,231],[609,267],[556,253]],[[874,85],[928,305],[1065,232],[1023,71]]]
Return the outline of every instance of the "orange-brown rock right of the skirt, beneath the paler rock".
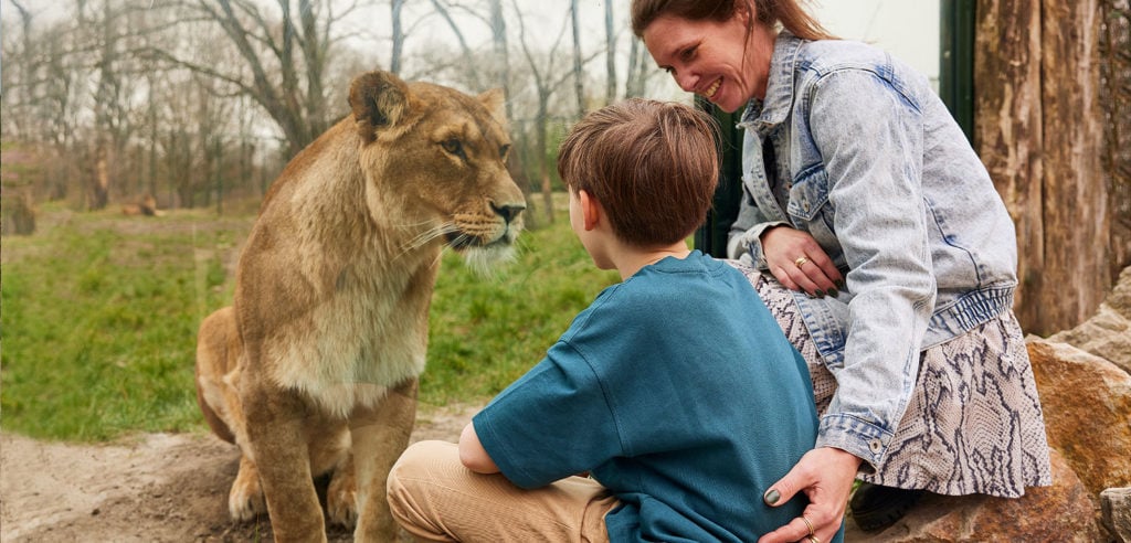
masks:
[[[1063,343],[1027,339],[1048,445],[1089,493],[1131,481],[1131,374]]]

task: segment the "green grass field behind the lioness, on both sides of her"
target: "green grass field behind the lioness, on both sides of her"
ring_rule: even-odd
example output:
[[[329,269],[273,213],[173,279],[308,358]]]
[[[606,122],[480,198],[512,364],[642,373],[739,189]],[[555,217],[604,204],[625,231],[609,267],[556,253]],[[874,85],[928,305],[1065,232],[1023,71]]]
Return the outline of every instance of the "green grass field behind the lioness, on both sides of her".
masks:
[[[200,319],[231,303],[253,214],[124,217],[40,210],[2,240],[0,423],[45,439],[204,431],[192,383]],[[492,277],[444,255],[421,402],[484,402],[541,360],[615,274],[594,269],[559,209]]]

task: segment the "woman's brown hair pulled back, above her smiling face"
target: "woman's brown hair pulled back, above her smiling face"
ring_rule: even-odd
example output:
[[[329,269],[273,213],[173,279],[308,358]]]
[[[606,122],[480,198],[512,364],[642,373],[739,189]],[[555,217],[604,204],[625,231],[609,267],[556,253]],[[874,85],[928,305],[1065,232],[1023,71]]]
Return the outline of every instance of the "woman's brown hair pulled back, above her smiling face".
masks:
[[[801,7],[802,0],[632,0],[632,33],[644,37],[644,29],[662,15],[688,20],[728,20],[740,9],[758,14],[758,23],[783,28],[803,40],[836,40],[813,16]]]

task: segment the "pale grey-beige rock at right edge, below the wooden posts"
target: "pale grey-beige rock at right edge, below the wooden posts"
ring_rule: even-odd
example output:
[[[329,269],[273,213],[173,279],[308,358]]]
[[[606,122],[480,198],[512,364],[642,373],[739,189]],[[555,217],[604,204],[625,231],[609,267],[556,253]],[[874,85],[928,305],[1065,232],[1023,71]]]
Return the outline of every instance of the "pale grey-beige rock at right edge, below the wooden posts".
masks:
[[[1131,267],[1123,268],[1095,316],[1047,341],[1074,345],[1131,373]]]

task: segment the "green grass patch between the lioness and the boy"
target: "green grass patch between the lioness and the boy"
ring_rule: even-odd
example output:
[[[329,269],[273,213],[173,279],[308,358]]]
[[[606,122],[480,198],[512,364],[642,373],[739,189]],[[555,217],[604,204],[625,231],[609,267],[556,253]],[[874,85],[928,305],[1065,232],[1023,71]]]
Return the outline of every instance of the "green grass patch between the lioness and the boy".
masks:
[[[519,260],[495,277],[477,277],[444,256],[432,300],[429,365],[421,400],[490,397],[545,355],[573,317],[619,281],[598,272],[562,214],[520,238]]]

